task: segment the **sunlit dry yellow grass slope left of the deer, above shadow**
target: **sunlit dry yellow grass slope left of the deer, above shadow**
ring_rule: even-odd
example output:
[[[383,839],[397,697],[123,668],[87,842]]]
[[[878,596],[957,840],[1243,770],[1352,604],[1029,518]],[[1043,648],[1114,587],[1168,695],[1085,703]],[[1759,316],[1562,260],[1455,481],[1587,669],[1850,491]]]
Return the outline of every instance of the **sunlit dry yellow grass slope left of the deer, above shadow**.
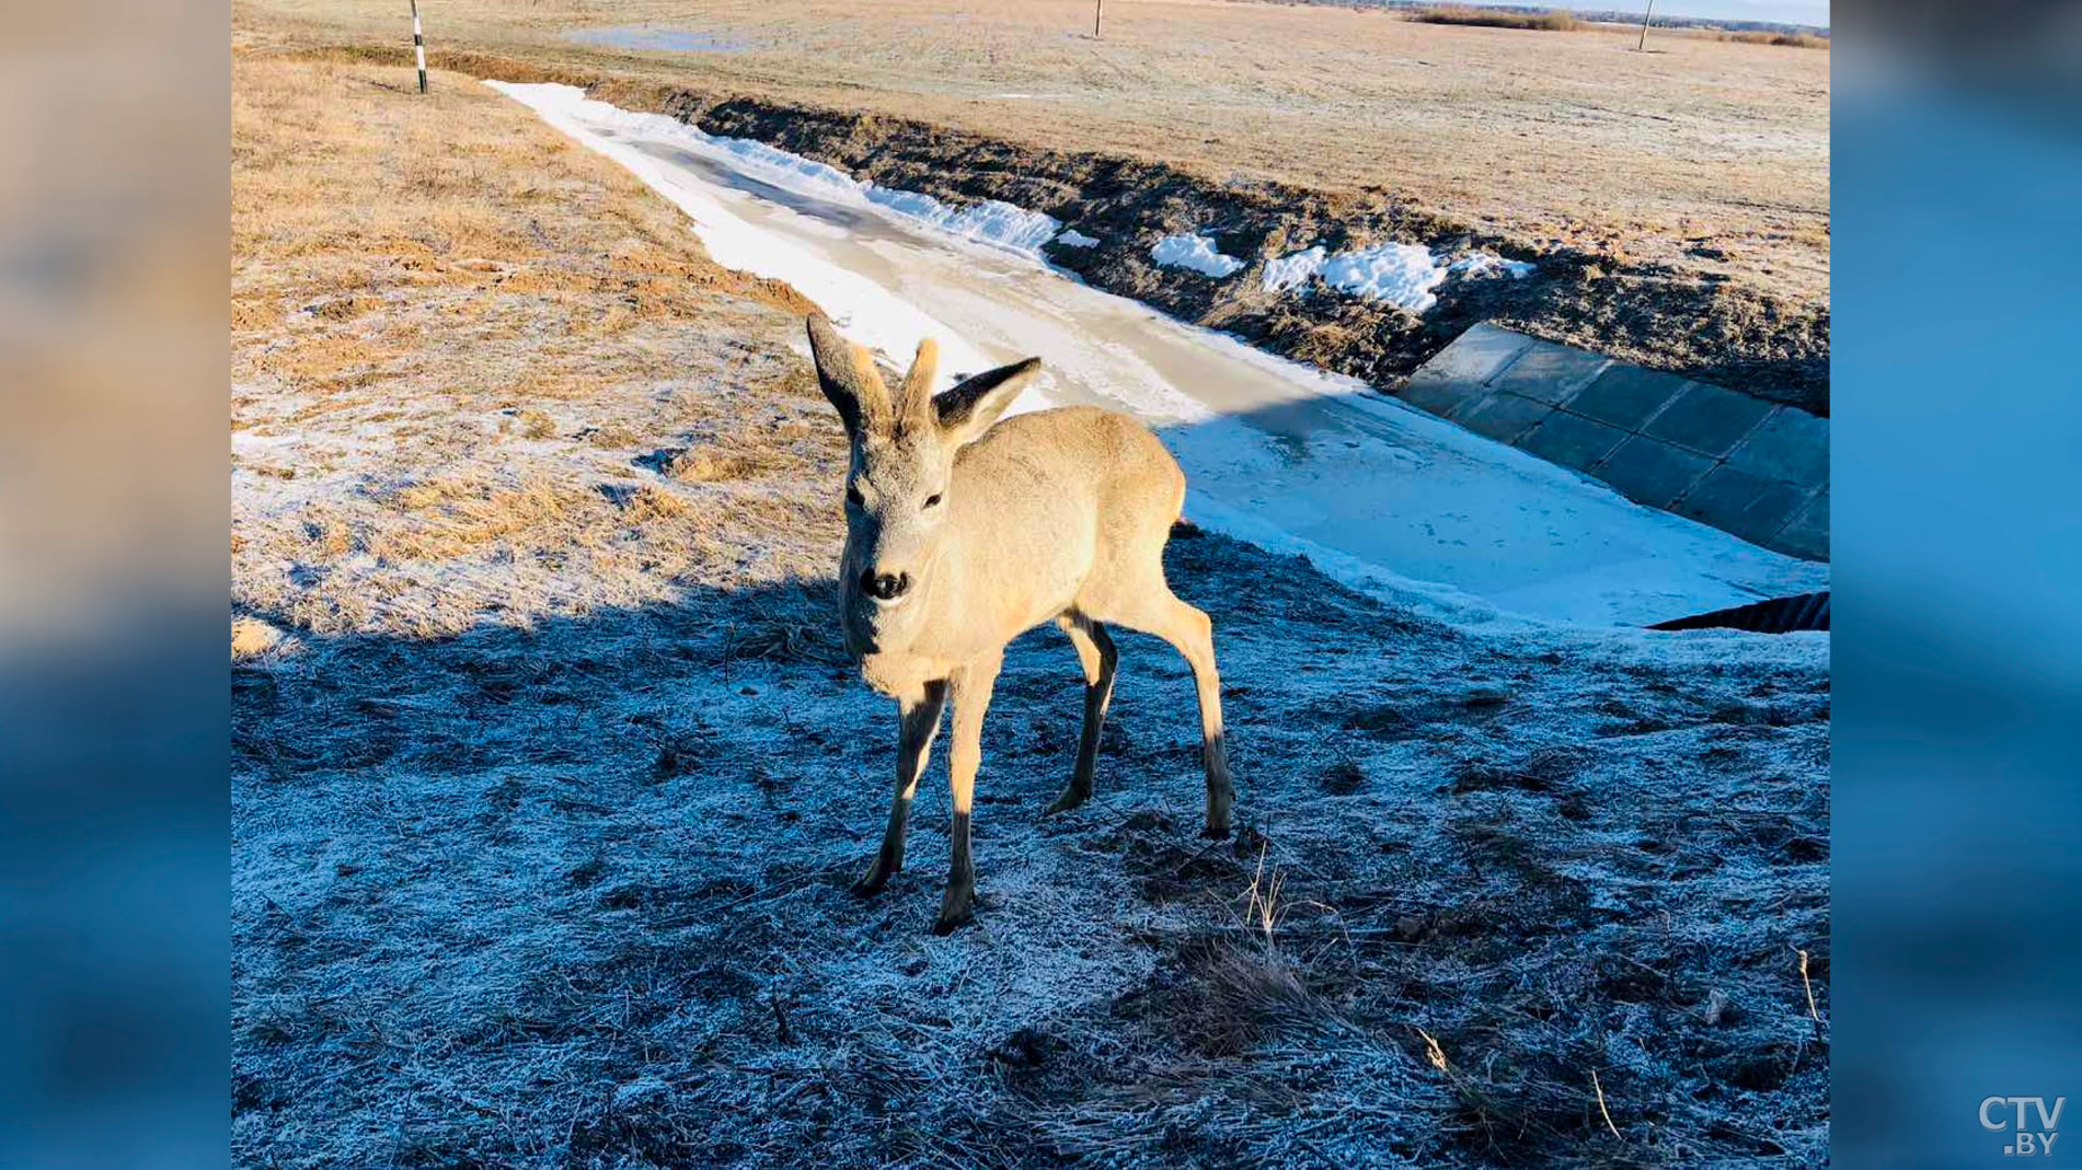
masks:
[[[275,627],[446,635],[820,568],[837,433],[787,350],[804,302],[520,106],[435,81],[235,56],[231,560],[256,616],[233,656]],[[695,446],[735,470],[660,470]]]

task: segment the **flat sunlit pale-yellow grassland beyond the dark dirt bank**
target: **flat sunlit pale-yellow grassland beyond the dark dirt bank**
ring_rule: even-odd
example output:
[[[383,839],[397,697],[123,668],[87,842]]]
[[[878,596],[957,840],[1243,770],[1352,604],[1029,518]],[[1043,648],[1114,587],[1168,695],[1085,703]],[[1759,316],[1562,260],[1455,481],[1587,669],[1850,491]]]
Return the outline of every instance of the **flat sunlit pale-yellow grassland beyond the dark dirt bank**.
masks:
[[[381,48],[389,0],[244,0],[252,37]],[[1830,54],[1711,35],[1537,37],[1335,6],[1112,0],[697,4],[446,0],[435,60],[527,77],[893,115],[1022,146],[1156,158],[1326,189],[1382,185],[1524,239],[1609,244],[1793,300],[1828,296]],[[573,29],[656,25],[731,52],[627,50]],[[1603,25],[1599,25],[1603,27]],[[393,71],[406,83],[410,71]]]

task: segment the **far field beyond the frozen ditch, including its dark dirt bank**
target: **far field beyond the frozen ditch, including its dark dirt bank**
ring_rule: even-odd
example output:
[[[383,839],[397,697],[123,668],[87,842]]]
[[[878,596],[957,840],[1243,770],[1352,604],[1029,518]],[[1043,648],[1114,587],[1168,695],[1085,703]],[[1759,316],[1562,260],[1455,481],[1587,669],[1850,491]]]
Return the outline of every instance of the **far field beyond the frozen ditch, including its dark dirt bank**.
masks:
[[[239,12],[260,42],[393,60],[406,44],[377,2]],[[1089,258],[1087,279],[1376,385],[1497,319],[1828,410],[1826,52],[1655,35],[1639,54],[1603,31],[1199,0],[1116,0],[1103,40],[1083,2],[870,12],[460,0],[427,19],[435,60],[608,79],[623,104],[860,177],[1097,219],[1122,250]],[[585,29],[614,44],[573,37]],[[1145,235],[1183,229],[1243,256],[1472,235],[1541,258],[1543,281],[1424,323],[1345,302],[1287,312],[1145,271]]]

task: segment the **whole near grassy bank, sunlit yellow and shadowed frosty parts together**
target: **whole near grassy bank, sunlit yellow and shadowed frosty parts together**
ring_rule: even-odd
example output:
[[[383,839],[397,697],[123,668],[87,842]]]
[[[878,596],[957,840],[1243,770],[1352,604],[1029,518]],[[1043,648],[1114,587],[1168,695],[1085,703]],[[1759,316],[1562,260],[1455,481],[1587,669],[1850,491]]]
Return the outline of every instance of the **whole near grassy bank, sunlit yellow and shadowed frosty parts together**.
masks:
[[[845,887],[891,712],[837,645],[843,446],[791,289],[518,104],[233,67],[242,1166],[1811,1166],[1813,637],[1497,633],[1172,541],[1185,664],[1008,656],[979,924]],[[1276,885],[1276,893],[1274,893]],[[1260,914],[1266,899],[1276,912]],[[1805,978],[1803,978],[1805,968]]]

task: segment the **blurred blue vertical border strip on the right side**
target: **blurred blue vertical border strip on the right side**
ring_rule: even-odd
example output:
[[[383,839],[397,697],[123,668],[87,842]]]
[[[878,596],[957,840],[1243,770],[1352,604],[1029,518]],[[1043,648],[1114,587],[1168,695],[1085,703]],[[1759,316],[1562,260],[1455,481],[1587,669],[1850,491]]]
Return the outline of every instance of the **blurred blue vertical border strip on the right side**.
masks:
[[[2082,1097],[2082,10],[1834,19],[1834,1155],[2013,1164],[1980,1101]]]

